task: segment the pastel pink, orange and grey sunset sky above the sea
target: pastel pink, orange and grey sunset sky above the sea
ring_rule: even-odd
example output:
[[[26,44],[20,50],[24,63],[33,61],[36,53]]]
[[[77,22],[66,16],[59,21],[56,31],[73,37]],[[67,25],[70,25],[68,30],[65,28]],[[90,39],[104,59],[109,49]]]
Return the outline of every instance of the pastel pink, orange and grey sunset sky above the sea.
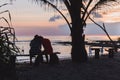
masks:
[[[0,0],[0,4],[9,0]],[[33,0],[16,0],[12,5],[6,5],[1,8],[0,11],[10,10],[12,15],[12,23],[17,35],[69,35],[69,28],[63,18],[58,16],[55,10],[44,10],[45,7],[41,7],[33,2]],[[113,7],[110,10],[103,10],[99,20],[100,23],[105,23],[107,30],[112,35],[120,35],[120,6]],[[1,14],[1,16],[8,15]],[[54,21],[54,18],[57,20]],[[0,22],[5,25],[5,22]],[[93,32],[94,29],[94,32]],[[93,23],[88,23],[85,33],[100,34],[104,32]]]

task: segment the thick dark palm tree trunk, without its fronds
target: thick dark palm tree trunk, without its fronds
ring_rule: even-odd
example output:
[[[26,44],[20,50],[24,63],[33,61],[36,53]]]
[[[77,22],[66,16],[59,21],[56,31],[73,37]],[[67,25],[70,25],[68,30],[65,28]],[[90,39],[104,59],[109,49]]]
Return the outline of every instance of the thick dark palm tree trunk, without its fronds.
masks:
[[[72,0],[71,2],[71,18],[72,18],[72,50],[71,56],[73,62],[87,61],[87,52],[85,49],[84,35],[83,35],[83,20],[81,19],[81,5],[82,0]],[[81,5],[80,5],[81,3]],[[76,6],[77,5],[77,6]]]

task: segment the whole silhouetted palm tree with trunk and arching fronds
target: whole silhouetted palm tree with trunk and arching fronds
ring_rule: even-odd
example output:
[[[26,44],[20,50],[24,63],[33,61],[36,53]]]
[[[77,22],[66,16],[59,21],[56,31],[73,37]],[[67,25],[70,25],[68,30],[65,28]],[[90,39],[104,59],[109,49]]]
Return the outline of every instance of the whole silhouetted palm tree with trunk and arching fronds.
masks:
[[[34,0],[50,4],[57,11],[57,5],[52,4],[58,0]],[[101,5],[115,0],[59,0],[62,1],[71,18],[72,25],[69,25],[72,39],[71,57],[73,62],[86,62],[87,52],[85,49],[85,34],[84,27],[86,20],[89,18],[92,11],[100,8]],[[60,10],[58,11],[60,13]],[[61,14],[61,13],[60,13]],[[65,17],[62,14],[63,17]],[[64,18],[65,19],[65,18]],[[65,19],[66,20],[66,19]],[[68,20],[66,20],[68,24]]]

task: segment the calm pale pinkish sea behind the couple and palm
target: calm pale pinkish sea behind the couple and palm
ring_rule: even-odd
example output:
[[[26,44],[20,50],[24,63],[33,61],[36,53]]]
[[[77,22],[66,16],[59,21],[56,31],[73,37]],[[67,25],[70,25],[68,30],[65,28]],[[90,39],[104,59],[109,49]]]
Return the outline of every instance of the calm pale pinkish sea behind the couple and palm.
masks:
[[[44,36],[44,37],[50,39],[52,47],[53,47],[53,52],[60,52],[60,54],[57,54],[59,59],[71,58],[71,45],[57,43],[57,42],[71,42],[70,36]],[[20,49],[19,54],[29,54],[29,50],[30,50],[29,44],[33,38],[34,36],[17,36],[16,46]],[[111,38],[113,40],[117,40],[118,36],[111,36]],[[94,36],[86,36],[85,40],[92,42],[95,40],[109,40],[109,39],[105,35],[104,36],[94,35]],[[94,56],[94,53],[93,54],[90,53],[88,45],[86,45],[86,50],[87,50],[88,56],[90,55]],[[17,61],[27,62],[29,61],[29,57],[25,57],[25,56],[17,57]]]

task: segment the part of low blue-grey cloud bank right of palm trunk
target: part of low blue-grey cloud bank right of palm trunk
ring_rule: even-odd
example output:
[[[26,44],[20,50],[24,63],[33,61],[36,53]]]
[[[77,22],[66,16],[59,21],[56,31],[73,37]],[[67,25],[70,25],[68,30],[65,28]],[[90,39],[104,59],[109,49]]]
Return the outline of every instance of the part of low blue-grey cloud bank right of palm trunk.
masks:
[[[99,23],[100,24],[100,23]],[[105,23],[106,30],[110,35],[120,35],[120,23]],[[95,24],[87,24],[85,34],[105,35],[104,31]]]

